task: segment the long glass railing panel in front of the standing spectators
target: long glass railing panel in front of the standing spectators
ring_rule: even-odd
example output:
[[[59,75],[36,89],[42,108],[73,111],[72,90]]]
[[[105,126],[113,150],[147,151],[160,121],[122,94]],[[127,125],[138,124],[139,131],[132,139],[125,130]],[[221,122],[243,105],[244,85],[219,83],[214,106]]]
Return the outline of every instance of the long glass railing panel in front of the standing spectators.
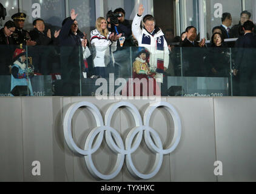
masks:
[[[146,58],[140,47],[0,49],[0,96],[256,96],[256,49],[177,45]]]

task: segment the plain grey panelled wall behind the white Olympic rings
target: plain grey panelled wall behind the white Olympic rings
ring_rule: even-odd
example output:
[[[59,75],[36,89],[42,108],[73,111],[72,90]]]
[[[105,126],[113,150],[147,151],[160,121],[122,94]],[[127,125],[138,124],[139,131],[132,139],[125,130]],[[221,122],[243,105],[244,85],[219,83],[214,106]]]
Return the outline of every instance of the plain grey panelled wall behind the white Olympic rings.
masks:
[[[76,156],[64,139],[62,119],[72,102],[87,101],[105,116],[114,100],[95,98],[0,98],[0,181],[96,181],[83,156]],[[111,181],[256,181],[256,98],[162,98],[175,107],[181,119],[181,140],[177,148],[164,155],[160,171],[148,180],[137,180],[126,165]],[[129,101],[143,118],[149,101]],[[118,109],[111,125],[123,139],[135,126],[127,109]],[[87,109],[73,116],[73,138],[79,147],[95,127]],[[169,113],[157,109],[150,126],[158,132],[164,146],[172,141],[173,124]],[[116,155],[103,141],[93,154],[96,168],[108,173]],[[132,155],[140,172],[150,172],[155,155],[144,141]],[[40,175],[34,176],[33,161],[40,162]],[[215,161],[222,162],[223,174],[214,174]],[[220,167],[220,166],[218,166]]]

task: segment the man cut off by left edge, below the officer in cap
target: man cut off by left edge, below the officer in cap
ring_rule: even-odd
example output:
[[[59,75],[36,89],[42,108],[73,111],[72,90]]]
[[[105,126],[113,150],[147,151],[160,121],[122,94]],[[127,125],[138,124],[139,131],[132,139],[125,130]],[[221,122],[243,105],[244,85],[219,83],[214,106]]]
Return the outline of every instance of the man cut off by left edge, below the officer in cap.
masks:
[[[12,53],[14,49],[10,45],[14,44],[11,37],[15,32],[15,23],[7,21],[0,30],[0,75],[9,75],[9,65],[12,65]]]

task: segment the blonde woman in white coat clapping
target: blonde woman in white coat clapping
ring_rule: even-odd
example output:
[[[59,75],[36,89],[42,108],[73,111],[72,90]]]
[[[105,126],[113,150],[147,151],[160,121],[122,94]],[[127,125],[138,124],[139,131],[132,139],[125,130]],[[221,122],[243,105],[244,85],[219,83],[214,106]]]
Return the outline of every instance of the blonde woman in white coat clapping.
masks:
[[[113,52],[116,51],[116,41],[121,37],[107,30],[107,21],[103,17],[96,20],[96,29],[90,33],[93,47],[94,74],[101,78],[109,77],[107,67],[115,63]]]

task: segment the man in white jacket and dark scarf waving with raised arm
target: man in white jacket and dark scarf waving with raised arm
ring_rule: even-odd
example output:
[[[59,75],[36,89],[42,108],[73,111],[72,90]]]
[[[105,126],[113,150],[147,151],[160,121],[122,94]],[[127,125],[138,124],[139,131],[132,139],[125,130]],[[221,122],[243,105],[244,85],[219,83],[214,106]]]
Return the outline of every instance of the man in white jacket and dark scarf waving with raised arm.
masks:
[[[144,8],[140,5],[139,12],[132,22],[132,33],[138,41],[139,47],[145,47],[150,53],[150,71],[156,73],[155,78],[160,78],[163,82],[163,73],[168,69],[169,50],[164,33],[155,26],[155,18],[147,15],[143,19]],[[141,21],[143,21],[143,29],[141,29]]]

